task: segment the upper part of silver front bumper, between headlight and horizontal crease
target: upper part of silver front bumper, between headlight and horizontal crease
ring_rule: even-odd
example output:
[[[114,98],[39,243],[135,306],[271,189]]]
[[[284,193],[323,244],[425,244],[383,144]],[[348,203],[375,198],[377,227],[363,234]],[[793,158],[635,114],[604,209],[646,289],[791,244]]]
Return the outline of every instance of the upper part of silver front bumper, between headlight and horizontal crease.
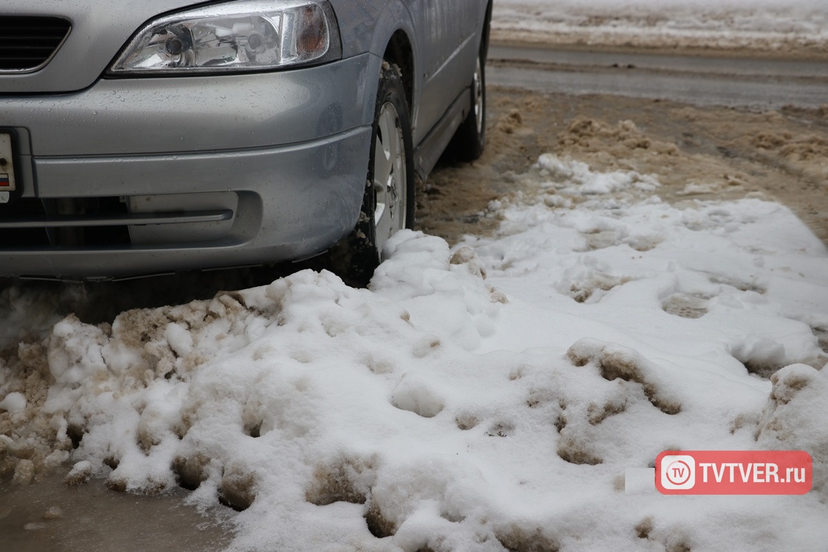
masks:
[[[101,79],[71,94],[0,98],[0,124],[40,156],[213,151],[306,142],[371,123],[382,60],[272,73]],[[347,88],[331,84],[354,83]]]

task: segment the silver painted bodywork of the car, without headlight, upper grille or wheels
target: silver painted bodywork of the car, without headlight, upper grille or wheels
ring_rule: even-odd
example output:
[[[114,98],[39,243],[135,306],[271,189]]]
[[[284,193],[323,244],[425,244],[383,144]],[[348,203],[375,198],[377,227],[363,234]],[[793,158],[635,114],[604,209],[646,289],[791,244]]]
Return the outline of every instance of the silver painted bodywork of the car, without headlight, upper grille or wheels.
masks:
[[[64,17],[72,29],[41,70],[0,74],[0,132],[15,142],[21,196],[17,207],[0,205],[0,276],[103,279],[324,251],[359,216],[380,65],[397,32],[412,45],[412,133],[425,177],[470,108],[485,0],[330,4],[341,60],[112,78],[108,67],[144,24],[198,4],[4,2],[0,15]],[[87,199],[120,207],[73,210]],[[24,209],[32,203],[42,212]],[[64,227],[82,218],[129,239],[79,242]],[[6,247],[27,223],[51,245]]]

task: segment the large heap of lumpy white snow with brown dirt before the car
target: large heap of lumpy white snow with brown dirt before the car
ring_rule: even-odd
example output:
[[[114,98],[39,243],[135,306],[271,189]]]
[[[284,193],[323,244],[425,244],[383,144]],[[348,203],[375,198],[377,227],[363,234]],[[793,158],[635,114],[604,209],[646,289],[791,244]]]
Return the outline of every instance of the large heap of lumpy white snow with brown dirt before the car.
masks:
[[[246,507],[233,550],[825,550],[826,247],[759,199],[518,178],[495,236],[399,233],[369,290],[303,271],[37,338],[42,298],[6,290],[14,477],[197,486]],[[667,449],[806,450],[814,490],[662,496]]]

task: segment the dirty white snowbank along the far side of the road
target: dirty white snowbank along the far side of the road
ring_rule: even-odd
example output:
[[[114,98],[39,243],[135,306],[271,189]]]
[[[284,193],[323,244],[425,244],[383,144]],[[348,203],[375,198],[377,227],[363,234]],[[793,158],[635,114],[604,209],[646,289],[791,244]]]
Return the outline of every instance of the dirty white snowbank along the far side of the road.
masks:
[[[822,0],[498,0],[499,40],[828,52]]]

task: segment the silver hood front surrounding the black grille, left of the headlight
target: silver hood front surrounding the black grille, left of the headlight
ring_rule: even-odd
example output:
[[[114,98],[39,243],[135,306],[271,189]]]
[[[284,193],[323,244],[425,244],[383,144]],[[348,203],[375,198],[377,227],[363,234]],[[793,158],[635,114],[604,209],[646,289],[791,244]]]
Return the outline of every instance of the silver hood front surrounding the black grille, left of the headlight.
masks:
[[[0,74],[0,94],[60,93],[84,89],[99,79],[145,22],[204,2],[190,0],[3,0],[0,17],[51,16],[71,24],[55,57],[41,70]]]

